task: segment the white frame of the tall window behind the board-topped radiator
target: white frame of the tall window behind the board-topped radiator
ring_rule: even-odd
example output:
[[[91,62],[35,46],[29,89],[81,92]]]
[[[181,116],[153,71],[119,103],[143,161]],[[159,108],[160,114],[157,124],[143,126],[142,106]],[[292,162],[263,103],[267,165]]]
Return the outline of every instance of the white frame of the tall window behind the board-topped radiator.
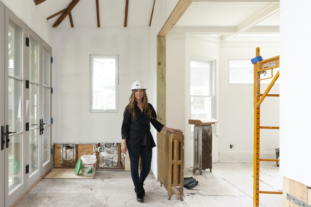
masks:
[[[190,61],[203,61],[203,62],[210,62],[211,64],[211,71],[210,71],[210,96],[205,95],[191,95],[190,94],[190,102],[192,97],[211,97],[212,98],[212,119],[216,119],[216,60],[210,59],[210,58],[203,58],[203,57],[197,57],[197,56],[190,56]],[[191,71],[191,68],[189,67],[189,72]],[[191,77],[191,75],[190,75]],[[191,104],[190,104],[190,117],[191,117]],[[212,127],[212,135],[215,135],[216,130],[216,124],[213,124]],[[193,137],[193,131],[192,131],[192,125],[190,124],[190,137]]]

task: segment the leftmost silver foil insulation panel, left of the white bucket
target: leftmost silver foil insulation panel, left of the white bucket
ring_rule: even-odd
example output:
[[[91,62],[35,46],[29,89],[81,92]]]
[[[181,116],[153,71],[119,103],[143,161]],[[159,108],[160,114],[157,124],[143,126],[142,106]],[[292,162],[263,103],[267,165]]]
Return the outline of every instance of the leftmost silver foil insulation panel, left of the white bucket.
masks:
[[[76,157],[75,144],[61,144],[60,148],[60,166],[61,167],[74,167]]]

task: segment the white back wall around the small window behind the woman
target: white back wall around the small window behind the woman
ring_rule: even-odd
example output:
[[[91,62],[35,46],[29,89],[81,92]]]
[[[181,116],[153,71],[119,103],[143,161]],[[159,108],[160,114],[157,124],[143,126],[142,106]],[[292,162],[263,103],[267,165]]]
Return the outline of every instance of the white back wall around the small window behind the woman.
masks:
[[[122,141],[132,83],[139,79],[150,86],[149,31],[148,27],[53,29],[52,142]],[[118,113],[90,113],[91,54],[119,55]]]

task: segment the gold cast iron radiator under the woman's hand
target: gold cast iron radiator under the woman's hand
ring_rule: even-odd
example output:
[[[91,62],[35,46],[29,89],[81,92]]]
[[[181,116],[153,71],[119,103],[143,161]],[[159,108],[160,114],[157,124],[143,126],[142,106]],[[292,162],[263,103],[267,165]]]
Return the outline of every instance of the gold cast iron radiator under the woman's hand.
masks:
[[[173,194],[176,194],[176,199],[183,200],[183,133],[170,133],[162,130],[160,149],[160,184],[166,188],[168,200]]]

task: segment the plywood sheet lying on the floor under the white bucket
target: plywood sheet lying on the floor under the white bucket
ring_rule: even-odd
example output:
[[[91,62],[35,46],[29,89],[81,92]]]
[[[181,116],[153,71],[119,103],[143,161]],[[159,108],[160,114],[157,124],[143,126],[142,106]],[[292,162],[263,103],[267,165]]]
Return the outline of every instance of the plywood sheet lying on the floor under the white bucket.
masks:
[[[53,178],[53,179],[93,179],[94,175],[86,176],[82,175],[81,171],[78,175],[75,174],[75,169],[63,169],[63,168],[54,168],[51,170],[44,178]]]

